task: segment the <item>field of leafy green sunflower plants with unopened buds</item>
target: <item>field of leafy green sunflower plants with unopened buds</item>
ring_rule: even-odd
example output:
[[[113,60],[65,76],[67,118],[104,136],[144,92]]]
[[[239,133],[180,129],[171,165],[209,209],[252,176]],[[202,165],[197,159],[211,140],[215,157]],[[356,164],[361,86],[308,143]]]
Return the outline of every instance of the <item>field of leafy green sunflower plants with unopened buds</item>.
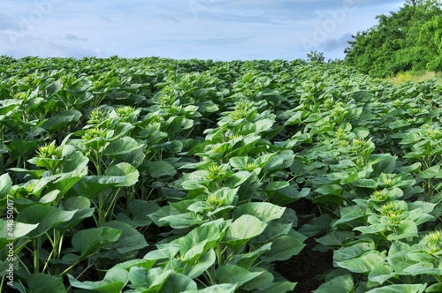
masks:
[[[311,250],[316,293],[441,292],[441,92],[302,60],[0,56],[0,287],[302,292],[279,268]]]

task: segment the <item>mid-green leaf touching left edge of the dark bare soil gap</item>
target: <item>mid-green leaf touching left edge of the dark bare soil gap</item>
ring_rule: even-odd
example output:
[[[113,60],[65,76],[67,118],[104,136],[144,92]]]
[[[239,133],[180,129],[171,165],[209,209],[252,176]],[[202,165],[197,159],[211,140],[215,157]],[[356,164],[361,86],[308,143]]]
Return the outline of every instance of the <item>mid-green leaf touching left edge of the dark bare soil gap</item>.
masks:
[[[286,260],[298,255],[305,247],[297,238],[291,236],[281,236],[273,240],[271,251],[265,254],[269,261]]]

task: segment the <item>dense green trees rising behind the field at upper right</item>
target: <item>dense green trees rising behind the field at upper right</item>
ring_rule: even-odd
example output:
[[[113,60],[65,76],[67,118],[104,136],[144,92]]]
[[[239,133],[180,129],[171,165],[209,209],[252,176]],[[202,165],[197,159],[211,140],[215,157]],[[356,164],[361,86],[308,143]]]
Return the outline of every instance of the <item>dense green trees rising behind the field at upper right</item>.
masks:
[[[407,1],[400,11],[353,35],[346,61],[372,77],[400,71],[442,71],[442,7],[436,0]]]

